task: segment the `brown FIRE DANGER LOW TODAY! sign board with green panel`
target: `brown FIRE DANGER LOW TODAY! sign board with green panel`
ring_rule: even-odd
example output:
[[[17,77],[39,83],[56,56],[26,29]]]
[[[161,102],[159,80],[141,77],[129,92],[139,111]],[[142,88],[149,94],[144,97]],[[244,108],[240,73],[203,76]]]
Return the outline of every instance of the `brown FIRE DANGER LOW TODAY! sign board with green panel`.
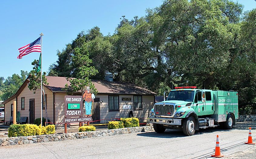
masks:
[[[83,116],[83,97],[78,95],[65,95],[65,118]],[[65,120],[65,119],[64,119]]]

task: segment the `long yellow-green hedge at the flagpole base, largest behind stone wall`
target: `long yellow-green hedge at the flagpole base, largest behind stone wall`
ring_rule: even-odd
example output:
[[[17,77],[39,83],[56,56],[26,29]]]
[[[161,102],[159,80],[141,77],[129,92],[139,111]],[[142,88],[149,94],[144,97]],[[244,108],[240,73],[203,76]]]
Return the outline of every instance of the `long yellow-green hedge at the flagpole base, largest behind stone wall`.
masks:
[[[8,137],[55,134],[55,125],[37,126],[35,124],[12,124],[8,128]]]

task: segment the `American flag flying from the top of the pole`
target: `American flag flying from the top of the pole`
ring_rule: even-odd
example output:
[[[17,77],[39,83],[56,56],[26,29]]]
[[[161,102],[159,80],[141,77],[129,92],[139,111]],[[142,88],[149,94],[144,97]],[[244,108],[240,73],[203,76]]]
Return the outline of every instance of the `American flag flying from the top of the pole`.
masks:
[[[31,52],[41,52],[41,36],[33,41],[32,43],[25,45],[18,49],[20,55],[18,55],[18,59],[22,59],[23,56],[28,55]]]

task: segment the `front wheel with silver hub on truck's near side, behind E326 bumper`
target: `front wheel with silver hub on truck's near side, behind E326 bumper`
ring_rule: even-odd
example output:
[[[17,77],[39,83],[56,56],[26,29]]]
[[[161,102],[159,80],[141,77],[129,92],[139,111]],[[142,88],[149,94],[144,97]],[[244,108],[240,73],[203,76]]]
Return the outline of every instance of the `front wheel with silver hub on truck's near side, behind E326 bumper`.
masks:
[[[195,133],[195,118],[189,117],[185,119],[182,124],[182,131],[186,136],[192,136]]]

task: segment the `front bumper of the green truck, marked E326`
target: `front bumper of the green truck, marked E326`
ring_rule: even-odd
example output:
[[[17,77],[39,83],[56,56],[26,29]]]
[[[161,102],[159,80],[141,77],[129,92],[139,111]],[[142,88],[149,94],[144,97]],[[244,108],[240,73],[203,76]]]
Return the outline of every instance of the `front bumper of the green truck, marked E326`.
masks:
[[[181,125],[181,119],[175,118],[152,118],[148,117],[148,123],[165,124],[165,125]]]

